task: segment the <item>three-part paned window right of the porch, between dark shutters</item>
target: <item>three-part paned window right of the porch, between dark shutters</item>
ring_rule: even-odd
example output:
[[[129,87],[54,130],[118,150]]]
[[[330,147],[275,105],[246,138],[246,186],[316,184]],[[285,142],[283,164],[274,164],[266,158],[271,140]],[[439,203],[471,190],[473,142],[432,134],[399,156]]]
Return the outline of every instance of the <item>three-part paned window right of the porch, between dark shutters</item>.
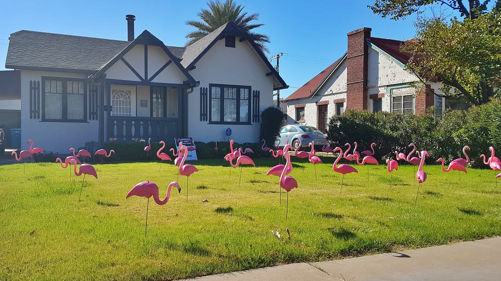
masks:
[[[210,84],[210,123],[250,122],[250,87]]]

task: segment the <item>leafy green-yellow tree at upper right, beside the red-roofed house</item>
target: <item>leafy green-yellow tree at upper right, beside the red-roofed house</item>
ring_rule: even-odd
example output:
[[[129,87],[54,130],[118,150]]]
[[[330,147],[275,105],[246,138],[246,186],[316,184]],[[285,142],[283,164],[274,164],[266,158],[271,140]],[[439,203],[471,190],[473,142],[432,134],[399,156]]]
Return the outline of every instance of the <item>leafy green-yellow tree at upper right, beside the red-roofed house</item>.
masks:
[[[467,3],[465,3],[467,2]],[[501,0],[488,10],[489,0],[375,0],[369,6],[383,17],[399,19],[441,4],[462,18],[418,17],[417,37],[401,51],[411,54],[407,68],[423,79],[436,79],[441,90],[472,104],[501,94]]]

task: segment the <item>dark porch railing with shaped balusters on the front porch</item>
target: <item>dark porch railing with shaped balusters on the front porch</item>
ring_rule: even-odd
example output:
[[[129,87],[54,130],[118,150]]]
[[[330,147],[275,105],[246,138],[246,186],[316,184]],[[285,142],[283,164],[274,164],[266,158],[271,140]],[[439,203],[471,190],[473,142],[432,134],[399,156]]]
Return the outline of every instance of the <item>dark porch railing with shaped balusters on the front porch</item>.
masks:
[[[108,116],[108,141],[172,142],[179,133],[179,118]]]

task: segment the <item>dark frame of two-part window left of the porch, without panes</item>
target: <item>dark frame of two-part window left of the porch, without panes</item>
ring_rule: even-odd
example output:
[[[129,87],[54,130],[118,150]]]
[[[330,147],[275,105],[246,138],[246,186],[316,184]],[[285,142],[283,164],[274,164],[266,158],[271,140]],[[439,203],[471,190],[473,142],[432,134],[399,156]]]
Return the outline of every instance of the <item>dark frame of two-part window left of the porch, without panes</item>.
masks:
[[[62,114],[61,119],[48,119],[45,117],[45,82],[47,80],[61,80],[62,81]],[[68,81],[78,81],[84,83],[84,118],[83,119],[68,119]],[[84,78],[70,78],[70,77],[54,77],[42,76],[42,118],[41,122],[65,122],[65,123],[88,123],[87,121],[87,82]],[[70,93],[71,94],[71,93]]]

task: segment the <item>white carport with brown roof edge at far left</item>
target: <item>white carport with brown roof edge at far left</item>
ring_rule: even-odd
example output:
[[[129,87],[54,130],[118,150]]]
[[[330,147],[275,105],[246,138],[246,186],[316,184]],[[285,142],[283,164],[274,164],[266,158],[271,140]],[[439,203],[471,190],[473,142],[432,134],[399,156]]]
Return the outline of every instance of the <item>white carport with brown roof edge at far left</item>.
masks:
[[[0,71],[0,127],[6,147],[17,146],[11,143],[10,129],[21,127],[21,70]]]

